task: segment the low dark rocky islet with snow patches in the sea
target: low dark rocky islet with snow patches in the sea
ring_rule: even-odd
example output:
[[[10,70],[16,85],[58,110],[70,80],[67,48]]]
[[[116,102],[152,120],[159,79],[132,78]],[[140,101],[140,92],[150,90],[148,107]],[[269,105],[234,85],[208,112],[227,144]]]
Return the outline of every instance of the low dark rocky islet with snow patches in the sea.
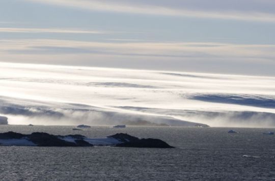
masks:
[[[82,135],[50,135],[35,132],[21,134],[15,132],[0,133],[0,145],[4,146],[119,146],[119,147],[154,147],[173,148],[160,139],[139,139],[119,133],[105,138],[87,138]]]

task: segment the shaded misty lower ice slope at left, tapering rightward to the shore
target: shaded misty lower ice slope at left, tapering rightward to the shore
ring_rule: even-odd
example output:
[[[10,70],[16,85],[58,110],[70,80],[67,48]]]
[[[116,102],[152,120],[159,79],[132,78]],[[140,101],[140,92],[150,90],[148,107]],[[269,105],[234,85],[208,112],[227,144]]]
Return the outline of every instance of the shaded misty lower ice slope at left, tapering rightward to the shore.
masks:
[[[18,103],[19,102],[19,103]],[[32,102],[31,105],[28,105]],[[149,120],[149,123],[167,124],[171,126],[195,126],[197,123],[185,122],[167,115],[153,115],[142,112],[118,111],[114,109],[102,109],[100,107],[52,103],[52,102],[33,102],[24,99],[0,97],[0,114],[9,118],[10,124],[43,124],[43,125],[117,125],[123,122],[138,122]],[[38,103],[38,104],[37,104]],[[44,104],[41,106],[41,104]],[[48,104],[48,105],[47,105]],[[22,119],[23,118],[23,122]]]

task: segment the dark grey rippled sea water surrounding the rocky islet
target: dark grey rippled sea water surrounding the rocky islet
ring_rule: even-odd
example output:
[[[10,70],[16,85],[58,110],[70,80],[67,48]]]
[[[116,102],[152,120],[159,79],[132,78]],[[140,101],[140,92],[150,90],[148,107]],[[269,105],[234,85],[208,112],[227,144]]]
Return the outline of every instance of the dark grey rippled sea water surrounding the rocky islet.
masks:
[[[0,132],[87,137],[128,133],[159,138],[175,149],[0,146],[1,180],[275,180],[274,129],[0,126]],[[243,155],[257,156],[244,158]],[[259,157],[259,158],[258,158]]]

